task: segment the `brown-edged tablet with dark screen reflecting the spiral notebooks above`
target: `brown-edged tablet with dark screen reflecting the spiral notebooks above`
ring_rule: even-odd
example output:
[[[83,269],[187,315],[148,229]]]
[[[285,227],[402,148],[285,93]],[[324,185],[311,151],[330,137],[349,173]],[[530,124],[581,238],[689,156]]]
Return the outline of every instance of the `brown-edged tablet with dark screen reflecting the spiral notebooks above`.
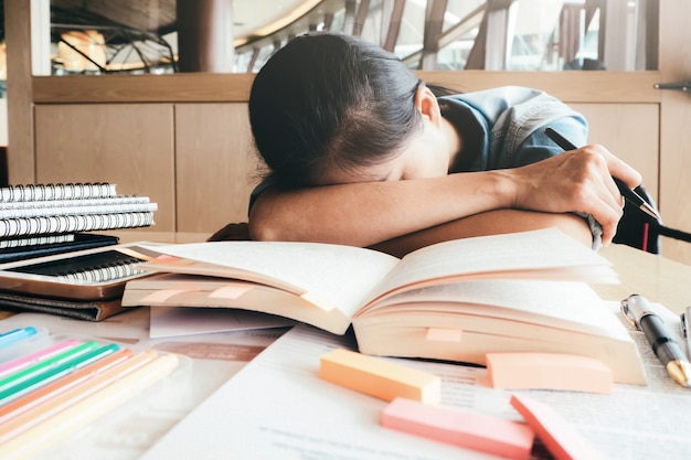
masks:
[[[139,268],[146,260],[127,253],[130,246],[134,244],[0,264],[0,291],[67,300],[118,298],[127,281],[149,275]]]

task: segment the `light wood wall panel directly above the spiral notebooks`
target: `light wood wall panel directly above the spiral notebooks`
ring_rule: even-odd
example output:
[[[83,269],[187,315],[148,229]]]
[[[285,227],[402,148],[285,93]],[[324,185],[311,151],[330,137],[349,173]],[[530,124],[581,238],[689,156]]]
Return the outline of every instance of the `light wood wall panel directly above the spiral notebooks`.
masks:
[[[158,203],[151,231],[174,231],[171,104],[35,107],[36,182],[114,182]]]

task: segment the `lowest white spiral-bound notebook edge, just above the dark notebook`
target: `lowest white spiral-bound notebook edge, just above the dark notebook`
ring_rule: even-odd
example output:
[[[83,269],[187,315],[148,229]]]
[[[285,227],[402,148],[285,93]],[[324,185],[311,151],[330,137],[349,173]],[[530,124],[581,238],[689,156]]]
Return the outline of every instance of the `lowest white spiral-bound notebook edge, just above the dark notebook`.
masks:
[[[0,220],[0,238],[146,227],[152,224],[152,212],[3,218]]]

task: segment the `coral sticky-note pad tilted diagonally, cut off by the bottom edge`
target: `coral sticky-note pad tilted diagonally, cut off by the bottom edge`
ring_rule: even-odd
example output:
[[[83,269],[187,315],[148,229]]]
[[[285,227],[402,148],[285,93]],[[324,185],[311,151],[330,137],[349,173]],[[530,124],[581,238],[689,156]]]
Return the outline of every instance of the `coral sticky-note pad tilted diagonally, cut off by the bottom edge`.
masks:
[[[524,395],[512,395],[511,406],[525,419],[556,460],[603,459],[568,421],[546,404]]]

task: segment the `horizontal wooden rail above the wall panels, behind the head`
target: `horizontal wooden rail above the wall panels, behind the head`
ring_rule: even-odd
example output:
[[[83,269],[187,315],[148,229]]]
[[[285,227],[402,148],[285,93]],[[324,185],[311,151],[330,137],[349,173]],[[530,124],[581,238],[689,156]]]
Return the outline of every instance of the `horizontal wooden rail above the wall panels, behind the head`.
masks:
[[[428,83],[479,90],[503,85],[544,89],[568,103],[659,103],[658,72],[417,72]],[[33,100],[53,103],[242,103],[254,74],[73,75],[32,78]]]

